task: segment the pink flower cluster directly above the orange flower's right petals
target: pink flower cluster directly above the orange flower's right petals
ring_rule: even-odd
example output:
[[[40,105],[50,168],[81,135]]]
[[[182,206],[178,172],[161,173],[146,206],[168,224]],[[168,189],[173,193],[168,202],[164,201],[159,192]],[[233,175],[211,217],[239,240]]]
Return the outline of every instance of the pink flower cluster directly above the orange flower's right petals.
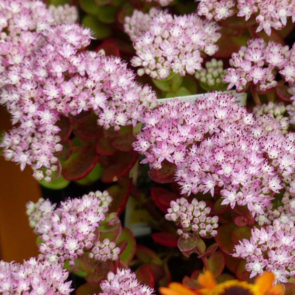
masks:
[[[273,221],[273,225],[252,229],[250,240],[243,239],[235,245],[234,257],[244,258],[245,268],[251,272],[250,278],[270,271],[276,282],[285,283],[295,277],[295,227],[287,223]]]

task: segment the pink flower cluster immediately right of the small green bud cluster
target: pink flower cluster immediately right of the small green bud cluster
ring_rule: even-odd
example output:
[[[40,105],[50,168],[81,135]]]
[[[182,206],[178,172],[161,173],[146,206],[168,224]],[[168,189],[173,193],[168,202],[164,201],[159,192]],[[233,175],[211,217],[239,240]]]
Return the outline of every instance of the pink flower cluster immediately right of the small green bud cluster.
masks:
[[[242,46],[230,59],[231,68],[227,69],[224,81],[229,83],[227,89],[236,86],[237,91],[245,91],[249,83],[266,91],[276,87],[275,76],[289,60],[289,47],[262,38],[251,39],[248,47]],[[281,73],[281,72],[280,72]]]

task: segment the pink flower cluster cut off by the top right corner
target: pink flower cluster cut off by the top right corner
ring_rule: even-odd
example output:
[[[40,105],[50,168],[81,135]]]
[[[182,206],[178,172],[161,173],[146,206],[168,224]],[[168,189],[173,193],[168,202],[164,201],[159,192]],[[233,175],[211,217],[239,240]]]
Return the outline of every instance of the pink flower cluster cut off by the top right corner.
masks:
[[[271,35],[271,28],[281,30],[287,24],[287,18],[292,17],[295,21],[294,0],[237,0],[237,16],[245,17],[247,21],[252,15],[258,23],[256,32],[264,30]],[[201,0],[198,6],[198,14],[207,19],[214,18],[219,21],[234,14],[235,1],[225,0]]]

